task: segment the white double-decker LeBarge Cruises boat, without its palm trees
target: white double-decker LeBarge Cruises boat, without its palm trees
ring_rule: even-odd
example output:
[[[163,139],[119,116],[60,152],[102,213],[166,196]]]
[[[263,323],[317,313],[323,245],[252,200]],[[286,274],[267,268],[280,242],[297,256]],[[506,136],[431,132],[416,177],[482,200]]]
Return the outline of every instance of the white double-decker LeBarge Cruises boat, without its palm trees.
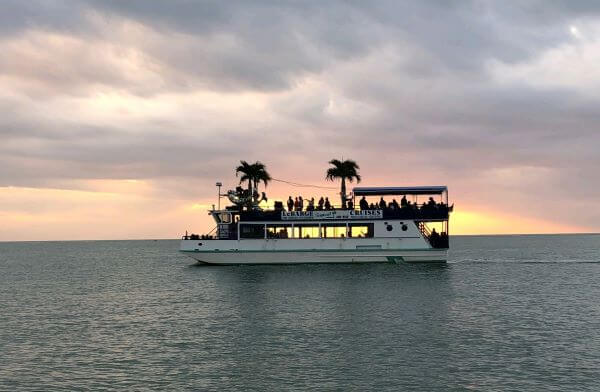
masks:
[[[206,264],[447,260],[453,206],[446,186],[356,187],[352,202],[339,209],[285,209],[282,202],[272,209],[256,203],[245,209],[239,187],[228,196],[232,206],[209,211],[213,232],[186,233],[181,252]]]

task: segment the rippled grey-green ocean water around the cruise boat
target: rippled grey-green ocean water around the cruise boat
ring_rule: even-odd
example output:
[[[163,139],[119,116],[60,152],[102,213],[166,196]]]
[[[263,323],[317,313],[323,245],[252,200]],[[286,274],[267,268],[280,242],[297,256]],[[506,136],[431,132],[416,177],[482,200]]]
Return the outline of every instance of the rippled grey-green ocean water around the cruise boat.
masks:
[[[600,235],[453,237],[445,266],[177,247],[0,243],[0,390],[600,390]]]

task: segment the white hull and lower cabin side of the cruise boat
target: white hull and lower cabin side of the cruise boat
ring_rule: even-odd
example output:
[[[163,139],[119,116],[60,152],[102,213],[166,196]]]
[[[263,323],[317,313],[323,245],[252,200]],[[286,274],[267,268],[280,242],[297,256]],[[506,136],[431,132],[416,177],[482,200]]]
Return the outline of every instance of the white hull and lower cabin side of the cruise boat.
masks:
[[[287,224],[287,223],[285,223]],[[338,225],[338,226],[334,226]],[[240,225],[248,225],[244,223]],[[209,264],[445,262],[447,249],[434,247],[419,226],[408,221],[313,223],[252,223],[251,234],[264,238],[191,239],[181,241],[186,255]],[[357,225],[357,226],[350,226]],[[311,226],[311,227],[312,227]],[[367,227],[364,236],[352,230]],[[300,228],[299,232],[297,229]],[[339,229],[336,232],[334,229]],[[271,237],[270,235],[281,234]],[[346,235],[347,234],[347,235]]]

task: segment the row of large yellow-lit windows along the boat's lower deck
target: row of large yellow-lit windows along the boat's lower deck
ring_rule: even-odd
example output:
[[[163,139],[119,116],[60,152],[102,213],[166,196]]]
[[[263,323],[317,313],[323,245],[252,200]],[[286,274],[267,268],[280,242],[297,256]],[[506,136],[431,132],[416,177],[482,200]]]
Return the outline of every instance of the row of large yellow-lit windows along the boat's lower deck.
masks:
[[[373,223],[333,223],[323,225],[241,224],[240,238],[368,238]]]

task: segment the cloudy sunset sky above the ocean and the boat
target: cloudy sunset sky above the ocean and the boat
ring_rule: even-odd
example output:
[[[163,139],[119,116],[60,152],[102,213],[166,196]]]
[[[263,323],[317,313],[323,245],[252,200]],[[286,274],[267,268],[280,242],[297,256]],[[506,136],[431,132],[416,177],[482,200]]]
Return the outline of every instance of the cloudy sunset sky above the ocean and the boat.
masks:
[[[447,185],[451,234],[600,231],[596,0],[1,9],[0,241],[207,232],[241,159],[303,184],[339,186],[337,158],[361,186]]]

